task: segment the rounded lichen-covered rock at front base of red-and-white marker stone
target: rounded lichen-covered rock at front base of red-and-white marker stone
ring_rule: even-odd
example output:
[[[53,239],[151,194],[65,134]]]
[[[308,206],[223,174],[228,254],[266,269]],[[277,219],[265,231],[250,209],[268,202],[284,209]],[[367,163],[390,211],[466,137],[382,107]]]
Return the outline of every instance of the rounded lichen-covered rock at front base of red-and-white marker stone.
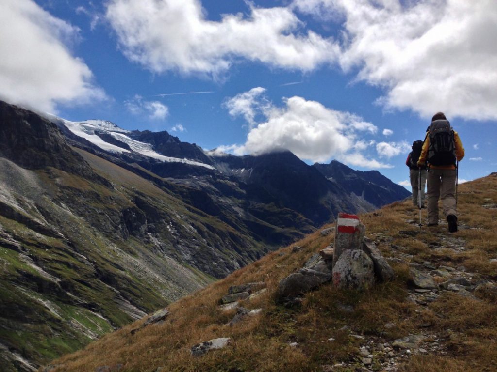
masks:
[[[374,283],[373,261],[361,249],[347,249],[333,266],[332,275],[337,288],[369,288]]]

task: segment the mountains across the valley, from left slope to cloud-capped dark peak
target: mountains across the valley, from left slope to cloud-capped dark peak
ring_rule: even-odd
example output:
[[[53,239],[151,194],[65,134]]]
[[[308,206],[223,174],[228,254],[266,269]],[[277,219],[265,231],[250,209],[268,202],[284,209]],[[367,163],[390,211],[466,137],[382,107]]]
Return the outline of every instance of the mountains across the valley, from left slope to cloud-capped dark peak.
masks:
[[[213,157],[167,132],[0,102],[0,370],[32,370],[337,211],[374,208],[357,195],[289,152]]]

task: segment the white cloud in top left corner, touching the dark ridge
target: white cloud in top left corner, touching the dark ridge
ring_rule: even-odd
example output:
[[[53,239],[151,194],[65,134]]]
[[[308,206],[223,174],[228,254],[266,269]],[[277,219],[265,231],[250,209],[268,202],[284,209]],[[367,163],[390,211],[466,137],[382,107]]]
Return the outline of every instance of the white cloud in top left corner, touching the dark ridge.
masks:
[[[0,2],[0,99],[56,112],[57,104],[105,99],[88,66],[66,44],[79,29],[32,0]]]

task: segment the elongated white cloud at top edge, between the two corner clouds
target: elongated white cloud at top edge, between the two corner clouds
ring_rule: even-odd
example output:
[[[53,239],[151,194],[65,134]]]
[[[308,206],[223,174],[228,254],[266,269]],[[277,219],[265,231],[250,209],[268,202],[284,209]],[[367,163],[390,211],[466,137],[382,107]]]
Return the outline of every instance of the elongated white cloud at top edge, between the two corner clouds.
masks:
[[[291,8],[247,4],[248,15],[210,21],[200,0],[110,0],[106,17],[126,57],[154,72],[219,77],[237,58],[302,71],[337,60],[338,45],[306,31]]]

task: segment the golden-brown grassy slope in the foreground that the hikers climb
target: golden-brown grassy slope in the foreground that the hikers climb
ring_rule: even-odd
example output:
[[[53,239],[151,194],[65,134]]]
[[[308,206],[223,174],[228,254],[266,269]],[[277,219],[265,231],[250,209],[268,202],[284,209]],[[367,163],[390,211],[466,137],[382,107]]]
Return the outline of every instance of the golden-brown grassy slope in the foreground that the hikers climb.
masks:
[[[480,298],[475,299],[445,292],[427,306],[408,300],[409,262],[464,265],[474,284],[497,280],[497,263],[490,262],[497,257],[497,209],[483,207],[497,201],[497,176],[460,185],[459,191],[461,229],[450,236],[446,224],[429,230],[424,226],[415,239],[400,233],[418,231],[417,209],[410,201],[361,216],[367,235],[377,241],[384,255],[398,259],[391,260],[397,273],[395,281],[378,284],[367,292],[343,292],[324,285],[307,294],[300,308],[276,306],[278,281],[332,243],[332,236],[318,232],[171,304],[171,315],[164,324],[131,335],[130,330],[143,320],[135,322],[53,362],[63,364],[55,371],[94,371],[98,366],[115,364],[123,364],[124,371],[155,371],[159,366],[166,371],[325,371],[324,366],[354,361],[364,343],[340,330],[344,325],[375,342],[392,342],[417,333],[430,333],[439,339],[436,353],[403,359],[400,371],[495,371],[496,297],[477,294]],[[297,245],[303,249],[293,253]],[[253,281],[265,281],[268,291],[245,306],[262,308],[262,314],[233,327],[225,325],[234,312],[220,312],[217,301],[230,285]],[[343,305],[354,310],[345,311]],[[396,326],[387,329],[389,322]],[[192,345],[216,337],[231,337],[232,343],[203,357],[190,356]],[[299,345],[291,347],[290,342]],[[381,359],[381,355],[375,358]]]

